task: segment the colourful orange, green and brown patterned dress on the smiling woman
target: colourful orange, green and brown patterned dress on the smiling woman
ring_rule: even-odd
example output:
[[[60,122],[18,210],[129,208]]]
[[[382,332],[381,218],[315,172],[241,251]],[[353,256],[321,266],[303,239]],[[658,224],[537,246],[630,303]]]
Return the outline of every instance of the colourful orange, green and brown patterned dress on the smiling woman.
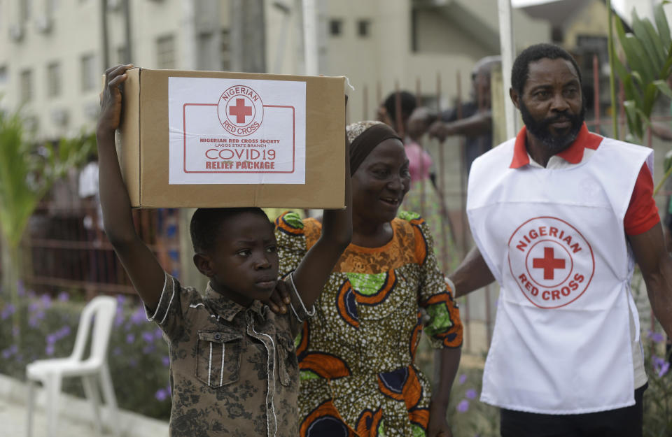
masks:
[[[435,348],[457,348],[462,324],[426,223],[401,213],[391,225],[386,245],[346,248],[295,340],[302,437],[426,434],[430,383],[414,364],[420,334]],[[312,218],[276,220],[281,275],[320,233]]]

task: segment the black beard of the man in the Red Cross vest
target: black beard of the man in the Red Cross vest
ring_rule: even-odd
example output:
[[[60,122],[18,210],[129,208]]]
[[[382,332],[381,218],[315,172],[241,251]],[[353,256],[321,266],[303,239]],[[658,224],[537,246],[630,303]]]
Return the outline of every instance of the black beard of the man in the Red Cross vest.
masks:
[[[568,148],[576,139],[576,136],[579,134],[583,125],[583,120],[586,115],[586,106],[582,102],[581,112],[578,115],[572,115],[568,111],[565,111],[538,122],[537,120],[534,120],[530,111],[527,110],[525,103],[523,103],[521,99],[520,114],[522,115],[525,127],[530,134],[535,136],[535,138],[538,138],[538,140],[546,145],[551,152],[556,154]],[[554,122],[564,119],[569,120],[570,122],[570,128],[567,133],[563,135],[552,134],[549,126]]]

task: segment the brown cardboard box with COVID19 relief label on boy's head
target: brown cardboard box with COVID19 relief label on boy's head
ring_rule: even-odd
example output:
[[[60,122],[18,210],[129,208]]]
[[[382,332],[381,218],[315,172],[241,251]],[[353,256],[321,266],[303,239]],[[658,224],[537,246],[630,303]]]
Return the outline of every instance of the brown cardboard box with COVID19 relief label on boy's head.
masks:
[[[344,78],[132,69],[132,206],[344,207]]]

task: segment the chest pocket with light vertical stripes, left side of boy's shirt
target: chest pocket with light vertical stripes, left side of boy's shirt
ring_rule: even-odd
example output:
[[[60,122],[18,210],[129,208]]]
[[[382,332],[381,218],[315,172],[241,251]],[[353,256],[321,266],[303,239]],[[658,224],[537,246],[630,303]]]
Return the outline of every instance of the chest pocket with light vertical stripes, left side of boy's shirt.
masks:
[[[237,382],[242,337],[237,332],[198,331],[196,378],[213,388]]]

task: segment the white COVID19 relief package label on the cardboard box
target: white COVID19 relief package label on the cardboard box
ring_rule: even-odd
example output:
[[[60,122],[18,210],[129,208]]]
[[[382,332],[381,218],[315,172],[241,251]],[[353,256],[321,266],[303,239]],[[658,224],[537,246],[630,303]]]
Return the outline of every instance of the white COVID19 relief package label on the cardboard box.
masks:
[[[168,78],[169,184],[304,184],[306,83]]]

